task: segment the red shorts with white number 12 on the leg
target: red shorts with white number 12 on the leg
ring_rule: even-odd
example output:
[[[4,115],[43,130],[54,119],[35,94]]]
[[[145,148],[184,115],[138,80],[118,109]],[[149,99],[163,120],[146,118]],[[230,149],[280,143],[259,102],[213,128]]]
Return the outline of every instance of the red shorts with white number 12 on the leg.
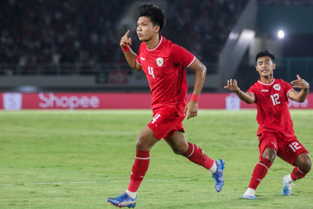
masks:
[[[260,160],[265,149],[273,148],[277,156],[293,166],[296,158],[301,153],[309,153],[296,137],[284,138],[279,133],[263,132],[259,136]]]

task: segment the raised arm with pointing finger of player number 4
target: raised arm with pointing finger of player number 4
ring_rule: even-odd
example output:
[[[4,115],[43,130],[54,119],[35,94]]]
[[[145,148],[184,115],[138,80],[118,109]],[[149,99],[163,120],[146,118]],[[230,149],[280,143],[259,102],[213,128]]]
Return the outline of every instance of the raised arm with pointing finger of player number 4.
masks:
[[[130,30],[128,30],[125,35],[121,38],[120,46],[122,47],[124,51],[124,55],[126,57],[126,60],[128,64],[136,71],[141,71],[141,65],[139,65],[136,62],[136,54],[134,51],[131,49],[130,45],[132,45],[132,39],[128,38],[127,36],[129,35]]]

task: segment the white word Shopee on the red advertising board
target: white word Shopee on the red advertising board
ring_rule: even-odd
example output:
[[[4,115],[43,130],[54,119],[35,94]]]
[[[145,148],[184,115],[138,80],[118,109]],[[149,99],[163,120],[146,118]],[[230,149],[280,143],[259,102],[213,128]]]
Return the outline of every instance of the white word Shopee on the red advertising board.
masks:
[[[41,108],[98,108],[100,100],[97,96],[56,96],[53,93],[39,93],[42,102],[39,103]]]

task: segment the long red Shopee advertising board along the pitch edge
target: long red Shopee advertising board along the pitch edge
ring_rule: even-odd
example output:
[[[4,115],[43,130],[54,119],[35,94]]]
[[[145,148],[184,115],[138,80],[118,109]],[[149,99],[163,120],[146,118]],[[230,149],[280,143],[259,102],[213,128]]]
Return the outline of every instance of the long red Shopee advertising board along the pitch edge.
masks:
[[[190,99],[191,93],[187,94]],[[313,93],[291,109],[313,109]],[[150,93],[0,93],[0,109],[150,109]],[[200,109],[253,109],[234,93],[201,93]]]

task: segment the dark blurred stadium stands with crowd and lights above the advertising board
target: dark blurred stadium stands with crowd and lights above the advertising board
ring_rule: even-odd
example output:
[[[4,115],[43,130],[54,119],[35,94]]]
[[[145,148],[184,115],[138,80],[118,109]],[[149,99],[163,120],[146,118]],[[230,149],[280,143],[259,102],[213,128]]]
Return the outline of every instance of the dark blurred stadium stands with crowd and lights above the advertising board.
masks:
[[[119,46],[136,12],[154,3],[167,14],[161,34],[207,67],[203,92],[234,78],[247,90],[259,78],[255,55],[276,55],[275,78],[313,83],[312,0],[2,0],[0,92],[149,92]],[[194,74],[187,69],[189,90]]]

